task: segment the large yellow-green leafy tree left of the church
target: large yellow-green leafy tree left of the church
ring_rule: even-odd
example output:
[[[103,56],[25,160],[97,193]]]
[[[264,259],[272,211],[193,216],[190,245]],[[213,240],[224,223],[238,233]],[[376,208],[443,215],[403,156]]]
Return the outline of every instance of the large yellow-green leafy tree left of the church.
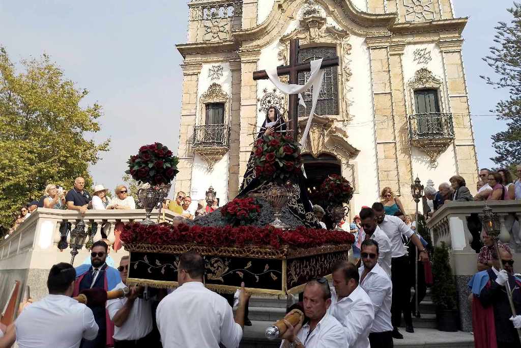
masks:
[[[0,224],[13,224],[19,208],[39,199],[49,183],[70,189],[77,176],[92,185],[89,165],[109,140],[89,140],[101,106],[82,107],[89,93],[65,78],[49,56],[17,68],[0,47]]]

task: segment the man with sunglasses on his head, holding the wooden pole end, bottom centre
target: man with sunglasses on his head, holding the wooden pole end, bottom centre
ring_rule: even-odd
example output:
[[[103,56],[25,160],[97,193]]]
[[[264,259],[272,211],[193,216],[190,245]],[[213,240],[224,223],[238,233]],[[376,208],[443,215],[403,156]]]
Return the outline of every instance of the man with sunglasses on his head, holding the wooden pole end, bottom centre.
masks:
[[[345,348],[348,346],[340,322],[327,310],[331,305],[331,290],[326,278],[316,278],[304,287],[304,312],[309,321],[294,328],[284,319],[288,330],[282,335],[280,348]],[[287,316],[291,315],[290,311]],[[286,316],[286,317],[287,317]]]

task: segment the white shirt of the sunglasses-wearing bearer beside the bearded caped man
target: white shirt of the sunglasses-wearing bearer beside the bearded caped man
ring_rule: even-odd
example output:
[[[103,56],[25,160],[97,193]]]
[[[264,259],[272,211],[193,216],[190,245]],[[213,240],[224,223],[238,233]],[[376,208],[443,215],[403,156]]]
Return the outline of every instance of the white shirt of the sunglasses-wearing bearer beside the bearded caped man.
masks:
[[[114,290],[124,289],[127,285],[120,282]],[[107,310],[110,320],[114,321],[114,316],[127,303],[128,298],[116,298],[107,301]],[[130,309],[127,320],[121,327],[114,326],[114,339],[118,341],[139,340],[152,331],[152,306],[150,301],[136,298],[132,309]]]

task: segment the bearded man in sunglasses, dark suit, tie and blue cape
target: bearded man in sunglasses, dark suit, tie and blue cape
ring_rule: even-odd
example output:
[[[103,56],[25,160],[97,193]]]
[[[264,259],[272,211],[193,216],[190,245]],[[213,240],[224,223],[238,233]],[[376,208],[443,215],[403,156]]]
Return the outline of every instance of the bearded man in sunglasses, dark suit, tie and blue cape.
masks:
[[[108,245],[103,241],[92,244],[91,265],[81,265],[76,268],[76,283],[74,296],[84,289],[100,288],[105,291],[114,290],[121,282],[117,269],[109,267],[106,263]],[[91,307],[94,319],[100,330],[92,341],[83,340],[80,348],[104,348],[114,346],[114,323],[105,309],[105,304]]]

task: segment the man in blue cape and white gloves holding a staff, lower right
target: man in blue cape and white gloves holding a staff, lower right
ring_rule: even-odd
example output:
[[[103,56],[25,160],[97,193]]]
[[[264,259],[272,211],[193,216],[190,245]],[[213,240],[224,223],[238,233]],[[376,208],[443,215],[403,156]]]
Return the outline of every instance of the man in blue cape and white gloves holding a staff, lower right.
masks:
[[[504,269],[500,271],[499,258]],[[474,274],[468,282],[472,291],[472,323],[476,348],[521,348],[517,329],[521,316],[513,316],[506,293],[510,284],[516,313],[521,313],[521,279],[514,277],[512,254],[499,248],[492,253],[493,266]]]

